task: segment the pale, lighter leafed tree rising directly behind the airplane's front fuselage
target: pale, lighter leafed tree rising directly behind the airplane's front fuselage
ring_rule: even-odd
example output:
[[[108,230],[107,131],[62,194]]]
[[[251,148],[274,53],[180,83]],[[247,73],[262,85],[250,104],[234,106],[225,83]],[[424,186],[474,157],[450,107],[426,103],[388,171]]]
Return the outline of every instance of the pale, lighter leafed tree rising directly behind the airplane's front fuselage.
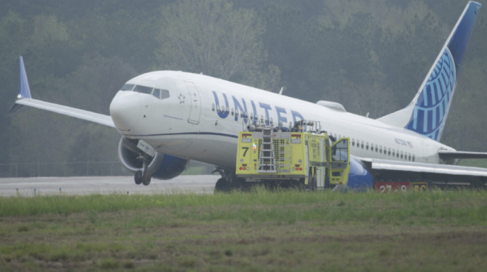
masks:
[[[261,69],[262,33],[251,10],[225,0],[180,1],[163,8],[158,59],[161,67],[268,88],[279,72]]]

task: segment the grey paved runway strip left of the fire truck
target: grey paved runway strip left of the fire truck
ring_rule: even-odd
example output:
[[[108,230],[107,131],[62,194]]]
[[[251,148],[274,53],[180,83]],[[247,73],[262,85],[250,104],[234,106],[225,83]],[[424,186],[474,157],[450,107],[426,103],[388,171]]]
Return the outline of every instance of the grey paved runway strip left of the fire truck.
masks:
[[[172,180],[152,179],[149,186],[136,185],[132,176],[0,178],[0,196],[53,194],[212,194],[220,176],[177,176]]]

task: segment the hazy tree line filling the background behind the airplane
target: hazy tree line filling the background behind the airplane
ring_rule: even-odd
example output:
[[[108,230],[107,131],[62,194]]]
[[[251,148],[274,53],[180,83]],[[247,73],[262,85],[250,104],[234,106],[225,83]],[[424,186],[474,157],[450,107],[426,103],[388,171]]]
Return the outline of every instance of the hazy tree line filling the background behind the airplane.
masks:
[[[8,114],[24,56],[34,98],[109,114],[147,71],[207,74],[381,117],[407,105],[467,1],[3,0],[0,163],[117,160],[118,133],[22,108]],[[487,15],[479,12],[442,136],[487,151]],[[74,171],[74,170],[73,170]],[[28,173],[26,173],[28,174]]]

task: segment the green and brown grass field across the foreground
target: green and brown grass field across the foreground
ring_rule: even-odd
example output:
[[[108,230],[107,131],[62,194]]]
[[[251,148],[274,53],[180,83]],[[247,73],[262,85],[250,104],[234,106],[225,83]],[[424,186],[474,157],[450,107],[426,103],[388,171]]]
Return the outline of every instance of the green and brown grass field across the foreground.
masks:
[[[487,192],[0,198],[1,271],[485,271]]]

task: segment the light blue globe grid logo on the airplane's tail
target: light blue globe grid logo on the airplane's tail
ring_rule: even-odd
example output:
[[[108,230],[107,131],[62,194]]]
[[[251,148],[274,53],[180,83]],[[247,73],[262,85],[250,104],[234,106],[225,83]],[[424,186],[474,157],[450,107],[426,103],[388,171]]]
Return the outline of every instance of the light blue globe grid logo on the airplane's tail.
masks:
[[[452,102],[455,82],[455,62],[446,47],[417,98],[406,128],[438,141]]]

